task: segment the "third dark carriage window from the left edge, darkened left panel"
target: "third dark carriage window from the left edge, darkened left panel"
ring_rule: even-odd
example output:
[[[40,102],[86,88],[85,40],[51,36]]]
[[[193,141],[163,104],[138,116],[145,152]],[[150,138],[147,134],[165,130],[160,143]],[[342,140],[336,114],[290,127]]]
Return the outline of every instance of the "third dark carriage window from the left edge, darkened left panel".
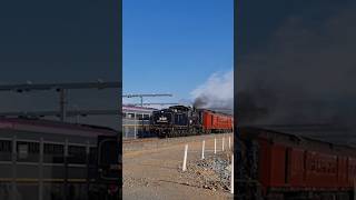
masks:
[[[44,143],[43,162],[63,163],[65,147],[62,144]]]

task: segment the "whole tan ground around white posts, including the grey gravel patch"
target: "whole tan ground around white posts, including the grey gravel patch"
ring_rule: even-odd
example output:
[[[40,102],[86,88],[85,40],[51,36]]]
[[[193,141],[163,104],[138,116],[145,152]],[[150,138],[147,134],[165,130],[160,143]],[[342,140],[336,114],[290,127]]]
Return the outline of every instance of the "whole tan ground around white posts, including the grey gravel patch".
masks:
[[[214,158],[215,137],[218,156]],[[190,142],[184,138],[170,142],[161,140],[135,143],[135,147],[123,146],[123,199],[233,199],[228,188],[229,176],[226,172],[229,152],[221,152],[222,137],[225,149],[228,149],[227,134],[188,137]],[[206,140],[206,161],[200,161],[202,139]],[[189,144],[188,168],[182,172],[185,143]]]

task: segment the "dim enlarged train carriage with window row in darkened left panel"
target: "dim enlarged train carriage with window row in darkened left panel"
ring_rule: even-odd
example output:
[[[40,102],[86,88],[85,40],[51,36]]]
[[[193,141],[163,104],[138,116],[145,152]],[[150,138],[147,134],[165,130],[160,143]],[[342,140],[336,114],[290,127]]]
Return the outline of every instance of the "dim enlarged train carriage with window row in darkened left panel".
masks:
[[[108,128],[0,119],[0,199],[119,196],[118,139]]]

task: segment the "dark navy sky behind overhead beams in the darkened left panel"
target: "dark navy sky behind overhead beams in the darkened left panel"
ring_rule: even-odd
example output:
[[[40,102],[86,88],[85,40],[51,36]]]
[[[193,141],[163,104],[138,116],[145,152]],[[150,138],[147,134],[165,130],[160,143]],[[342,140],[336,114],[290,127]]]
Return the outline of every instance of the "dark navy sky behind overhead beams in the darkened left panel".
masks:
[[[0,83],[118,81],[118,3],[0,1]],[[68,109],[118,109],[119,94],[117,89],[70,90]],[[0,112],[58,110],[57,92],[0,92]],[[112,116],[81,119],[119,127]]]

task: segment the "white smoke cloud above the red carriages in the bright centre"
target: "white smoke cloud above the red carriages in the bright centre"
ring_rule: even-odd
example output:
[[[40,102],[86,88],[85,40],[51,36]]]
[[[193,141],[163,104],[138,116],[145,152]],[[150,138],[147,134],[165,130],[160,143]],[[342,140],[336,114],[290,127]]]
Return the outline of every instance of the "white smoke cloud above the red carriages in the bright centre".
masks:
[[[234,70],[211,74],[190,94],[197,108],[214,108],[231,113],[234,110]]]

